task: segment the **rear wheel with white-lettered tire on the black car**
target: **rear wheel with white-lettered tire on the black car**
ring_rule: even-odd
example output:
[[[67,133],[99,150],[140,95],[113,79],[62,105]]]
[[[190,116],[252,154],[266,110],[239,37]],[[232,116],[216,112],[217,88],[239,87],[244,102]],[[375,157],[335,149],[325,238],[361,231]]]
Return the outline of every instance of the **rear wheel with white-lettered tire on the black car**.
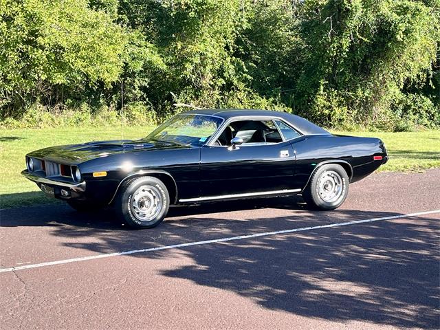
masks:
[[[334,210],[344,203],[349,194],[349,175],[338,164],[325,164],[315,170],[303,191],[303,199],[310,208]]]

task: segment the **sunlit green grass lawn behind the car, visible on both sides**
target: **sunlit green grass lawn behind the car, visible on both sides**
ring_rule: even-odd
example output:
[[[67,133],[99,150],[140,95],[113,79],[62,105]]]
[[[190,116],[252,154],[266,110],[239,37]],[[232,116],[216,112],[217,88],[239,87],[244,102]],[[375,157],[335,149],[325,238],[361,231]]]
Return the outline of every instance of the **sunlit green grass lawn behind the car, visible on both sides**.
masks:
[[[126,127],[124,138],[140,138],[151,129],[152,127]],[[391,156],[388,163],[380,170],[419,171],[440,167],[440,131],[333,133],[380,137]],[[45,197],[36,184],[21,177],[20,172],[25,168],[26,153],[46,146],[120,138],[122,138],[120,127],[2,130],[0,132],[0,208],[56,202],[55,199]]]

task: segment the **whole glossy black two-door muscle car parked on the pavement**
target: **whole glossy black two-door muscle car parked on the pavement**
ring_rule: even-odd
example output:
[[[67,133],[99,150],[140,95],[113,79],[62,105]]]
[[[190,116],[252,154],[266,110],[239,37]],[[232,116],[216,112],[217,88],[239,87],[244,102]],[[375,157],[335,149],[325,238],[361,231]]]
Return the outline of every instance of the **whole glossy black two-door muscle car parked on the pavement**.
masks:
[[[310,207],[333,210],[350,182],[387,159],[379,139],[333,135],[297,115],[209,109],[136,141],[33,151],[22,174],[76,210],[110,205],[132,227],[151,228],[170,204],[302,194]]]

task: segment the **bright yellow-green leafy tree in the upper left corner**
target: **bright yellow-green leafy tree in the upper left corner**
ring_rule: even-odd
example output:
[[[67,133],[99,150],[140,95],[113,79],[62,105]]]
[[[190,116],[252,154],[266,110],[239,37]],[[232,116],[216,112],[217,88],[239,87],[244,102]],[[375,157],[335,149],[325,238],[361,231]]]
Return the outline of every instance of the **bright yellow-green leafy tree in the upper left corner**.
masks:
[[[126,33],[85,0],[1,0],[3,115],[31,102],[64,102],[122,72]]]

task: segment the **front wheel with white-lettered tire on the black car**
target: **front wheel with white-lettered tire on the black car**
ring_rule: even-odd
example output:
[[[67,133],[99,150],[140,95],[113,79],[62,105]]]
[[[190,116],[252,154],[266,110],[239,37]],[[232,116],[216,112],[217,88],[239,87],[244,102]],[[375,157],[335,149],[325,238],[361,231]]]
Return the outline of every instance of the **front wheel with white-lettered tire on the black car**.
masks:
[[[170,206],[165,184],[156,177],[127,181],[115,201],[118,217],[131,228],[153,228],[161,223]]]

